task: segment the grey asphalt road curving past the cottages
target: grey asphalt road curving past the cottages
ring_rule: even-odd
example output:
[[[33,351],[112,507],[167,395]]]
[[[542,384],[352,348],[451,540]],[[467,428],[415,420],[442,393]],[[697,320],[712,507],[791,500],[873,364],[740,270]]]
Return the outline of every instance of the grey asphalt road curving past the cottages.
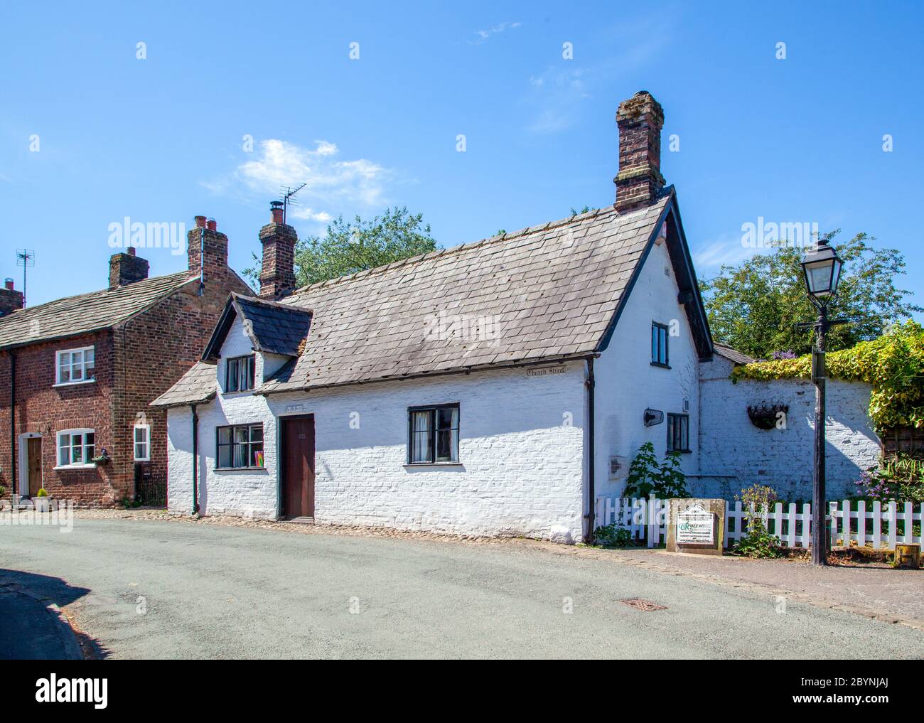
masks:
[[[77,520],[0,529],[0,568],[113,658],[924,655],[905,626],[530,545]]]

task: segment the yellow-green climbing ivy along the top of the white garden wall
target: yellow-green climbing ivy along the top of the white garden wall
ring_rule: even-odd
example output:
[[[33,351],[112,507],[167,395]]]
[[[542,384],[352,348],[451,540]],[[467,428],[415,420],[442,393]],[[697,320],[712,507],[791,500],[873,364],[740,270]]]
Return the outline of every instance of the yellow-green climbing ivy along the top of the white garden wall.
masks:
[[[894,325],[887,334],[861,341],[851,349],[830,351],[828,376],[847,382],[867,382],[869,418],[877,430],[924,428],[924,328],[912,320]],[[811,355],[737,366],[732,381],[810,379]]]

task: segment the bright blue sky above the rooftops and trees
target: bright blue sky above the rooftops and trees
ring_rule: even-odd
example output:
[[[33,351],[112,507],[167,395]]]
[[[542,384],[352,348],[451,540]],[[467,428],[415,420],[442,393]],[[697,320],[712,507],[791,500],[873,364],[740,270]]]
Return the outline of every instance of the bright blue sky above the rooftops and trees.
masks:
[[[286,182],[301,236],[397,204],[443,246],[612,204],[615,109],[645,89],[700,277],[744,224],[814,222],[903,251],[920,302],[921,5],[764,5],[5,4],[0,276],[25,247],[29,305],[103,288],[110,224],[195,214],[240,270]]]

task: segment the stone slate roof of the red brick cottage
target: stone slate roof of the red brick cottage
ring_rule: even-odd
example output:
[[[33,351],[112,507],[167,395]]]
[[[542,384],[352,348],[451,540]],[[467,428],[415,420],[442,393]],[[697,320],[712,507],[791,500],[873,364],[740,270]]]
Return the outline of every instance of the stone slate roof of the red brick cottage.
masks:
[[[0,349],[74,337],[118,325],[197,280],[198,276],[182,271],[12,312],[0,317]]]

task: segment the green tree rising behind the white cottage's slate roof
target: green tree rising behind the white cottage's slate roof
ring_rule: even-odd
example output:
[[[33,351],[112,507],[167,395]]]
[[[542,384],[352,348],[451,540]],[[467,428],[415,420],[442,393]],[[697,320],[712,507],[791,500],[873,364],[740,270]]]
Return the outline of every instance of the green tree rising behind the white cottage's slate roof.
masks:
[[[338,216],[323,238],[298,239],[296,280],[299,287],[306,286],[435,250],[430,224],[423,223],[422,214],[410,214],[405,207],[386,208],[369,221],[357,215],[347,223]],[[244,276],[259,287],[260,259],[253,258],[256,263],[244,270]]]

